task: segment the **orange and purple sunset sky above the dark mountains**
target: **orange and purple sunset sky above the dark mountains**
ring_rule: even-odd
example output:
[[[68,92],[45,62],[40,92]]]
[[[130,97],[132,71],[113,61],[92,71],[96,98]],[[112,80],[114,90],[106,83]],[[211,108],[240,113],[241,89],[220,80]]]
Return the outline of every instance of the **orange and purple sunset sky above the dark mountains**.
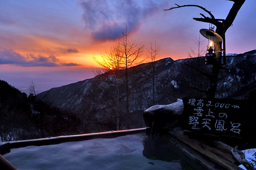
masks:
[[[110,48],[122,32],[136,42],[161,48],[159,59],[187,58],[199,30],[208,23],[200,8],[163,11],[175,4],[195,4],[225,19],[229,0],[0,0],[0,79],[28,93],[92,78],[92,56]],[[255,50],[256,0],[246,0],[226,32],[226,53]],[[201,36],[201,38],[203,38]],[[206,46],[206,45],[205,45]],[[206,47],[205,47],[206,49]],[[146,52],[145,52],[146,55]]]

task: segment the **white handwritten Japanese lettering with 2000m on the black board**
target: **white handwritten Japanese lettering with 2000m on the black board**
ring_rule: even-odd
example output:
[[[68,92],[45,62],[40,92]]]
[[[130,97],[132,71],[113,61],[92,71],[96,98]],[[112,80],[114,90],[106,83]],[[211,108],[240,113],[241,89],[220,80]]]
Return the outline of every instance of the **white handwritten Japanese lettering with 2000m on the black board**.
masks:
[[[200,127],[203,131],[208,132],[240,134],[242,124],[237,116],[233,115],[233,112],[240,111],[239,103],[229,103],[223,99],[188,97],[183,102],[184,110],[185,106],[188,106],[187,124],[189,127]]]

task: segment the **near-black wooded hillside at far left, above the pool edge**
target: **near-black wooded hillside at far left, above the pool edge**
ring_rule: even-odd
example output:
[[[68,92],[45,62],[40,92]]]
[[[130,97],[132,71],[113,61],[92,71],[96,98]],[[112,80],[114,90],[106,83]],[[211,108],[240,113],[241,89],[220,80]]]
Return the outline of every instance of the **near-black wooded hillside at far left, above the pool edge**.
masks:
[[[78,134],[74,114],[0,80],[0,142]]]

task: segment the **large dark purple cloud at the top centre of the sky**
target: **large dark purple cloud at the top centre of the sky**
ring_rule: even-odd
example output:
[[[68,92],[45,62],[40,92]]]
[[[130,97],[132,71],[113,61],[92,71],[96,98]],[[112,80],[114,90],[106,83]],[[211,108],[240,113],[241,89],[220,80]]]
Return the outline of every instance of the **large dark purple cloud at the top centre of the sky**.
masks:
[[[84,0],[80,5],[86,28],[95,41],[118,39],[122,32],[136,31],[143,20],[166,8],[167,0]]]

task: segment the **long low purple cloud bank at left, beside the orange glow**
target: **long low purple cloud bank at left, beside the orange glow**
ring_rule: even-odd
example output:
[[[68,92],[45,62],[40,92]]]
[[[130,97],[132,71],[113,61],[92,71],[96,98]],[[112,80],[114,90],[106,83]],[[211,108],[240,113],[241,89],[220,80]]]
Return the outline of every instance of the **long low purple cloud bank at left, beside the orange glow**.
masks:
[[[60,64],[57,64],[60,63]],[[58,66],[79,66],[76,63],[62,63],[55,56],[42,55],[21,55],[11,49],[0,49],[0,64],[14,64],[22,67],[58,67]]]

